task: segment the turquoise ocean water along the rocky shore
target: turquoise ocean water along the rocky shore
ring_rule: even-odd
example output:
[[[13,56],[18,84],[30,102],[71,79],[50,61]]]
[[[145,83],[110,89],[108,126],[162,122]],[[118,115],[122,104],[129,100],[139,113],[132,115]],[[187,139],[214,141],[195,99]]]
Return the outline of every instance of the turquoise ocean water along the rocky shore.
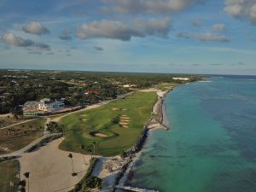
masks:
[[[212,76],[166,96],[131,185],[162,192],[256,191],[256,77]]]

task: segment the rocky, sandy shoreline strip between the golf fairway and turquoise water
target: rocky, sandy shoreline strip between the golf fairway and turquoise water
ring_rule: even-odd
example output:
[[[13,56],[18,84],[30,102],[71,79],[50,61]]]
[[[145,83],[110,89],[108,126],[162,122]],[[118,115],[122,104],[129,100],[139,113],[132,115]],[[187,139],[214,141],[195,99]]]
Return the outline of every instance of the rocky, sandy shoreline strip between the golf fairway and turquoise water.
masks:
[[[143,131],[137,143],[134,146],[125,152],[125,157],[113,157],[108,158],[108,160],[102,160],[102,172],[105,172],[106,175],[97,173],[95,174],[97,177],[102,177],[103,184],[102,191],[123,191],[121,189],[115,189],[117,185],[127,185],[132,177],[132,167],[136,162],[141,150],[143,149],[143,145],[148,138],[148,131],[153,129],[164,129],[168,130],[169,128],[163,124],[164,122],[164,114],[163,114],[163,102],[164,97],[166,94],[171,90],[151,90],[157,93],[158,99],[157,102],[154,104],[154,108],[152,110],[152,115],[148,122],[143,126]],[[115,170],[112,172],[107,172],[108,169],[107,165],[110,164],[115,167]],[[109,179],[112,177],[112,179]],[[107,179],[108,178],[108,179]],[[105,180],[105,181],[104,181]]]

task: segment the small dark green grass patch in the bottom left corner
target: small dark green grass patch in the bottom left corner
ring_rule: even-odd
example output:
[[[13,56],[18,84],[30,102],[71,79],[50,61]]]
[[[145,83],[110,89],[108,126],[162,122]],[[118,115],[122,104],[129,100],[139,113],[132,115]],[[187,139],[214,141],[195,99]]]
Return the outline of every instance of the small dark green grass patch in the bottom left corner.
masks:
[[[19,161],[10,160],[0,162],[0,191],[2,192],[15,192],[17,191],[17,183],[20,179],[17,177],[19,174]],[[14,186],[10,186],[14,183]]]

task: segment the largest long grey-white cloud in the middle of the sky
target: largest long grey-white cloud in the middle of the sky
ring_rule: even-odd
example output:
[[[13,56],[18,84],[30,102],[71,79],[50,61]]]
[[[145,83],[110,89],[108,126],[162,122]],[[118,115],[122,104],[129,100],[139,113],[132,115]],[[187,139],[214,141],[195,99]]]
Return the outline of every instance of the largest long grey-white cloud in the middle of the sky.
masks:
[[[129,41],[132,37],[144,38],[157,36],[167,38],[171,27],[169,18],[157,20],[133,20],[130,25],[120,21],[102,20],[84,23],[77,30],[77,37],[86,38],[112,38]]]

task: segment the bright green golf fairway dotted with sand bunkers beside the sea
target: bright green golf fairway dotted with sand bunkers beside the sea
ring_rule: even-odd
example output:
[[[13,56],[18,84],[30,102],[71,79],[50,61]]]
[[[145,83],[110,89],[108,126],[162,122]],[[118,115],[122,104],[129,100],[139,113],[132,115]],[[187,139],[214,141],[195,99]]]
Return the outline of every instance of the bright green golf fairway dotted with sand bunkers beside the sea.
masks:
[[[154,92],[137,92],[100,108],[64,117],[61,124],[65,126],[65,140],[60,148],[81,153],[81,144],[87,151],[96,142],[96,154],[120,154],[136,143],[156,99]]]

